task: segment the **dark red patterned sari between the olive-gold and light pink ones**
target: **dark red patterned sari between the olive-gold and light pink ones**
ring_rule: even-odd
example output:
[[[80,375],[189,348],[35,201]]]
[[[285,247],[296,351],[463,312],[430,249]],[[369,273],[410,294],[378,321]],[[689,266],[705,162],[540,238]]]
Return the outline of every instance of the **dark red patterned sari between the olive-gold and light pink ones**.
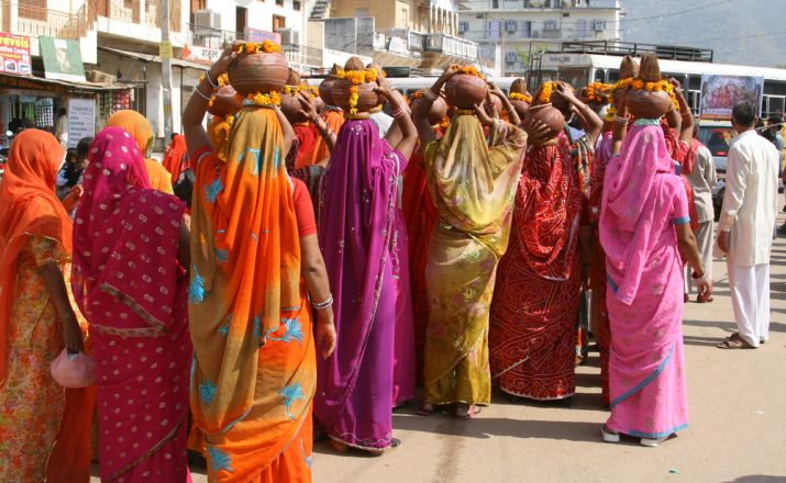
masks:
[[[529,148],[491,303],[491,375],[502,391],[533,400],[569,397],[576,386],[584,199],[569,149],[564,133]]]

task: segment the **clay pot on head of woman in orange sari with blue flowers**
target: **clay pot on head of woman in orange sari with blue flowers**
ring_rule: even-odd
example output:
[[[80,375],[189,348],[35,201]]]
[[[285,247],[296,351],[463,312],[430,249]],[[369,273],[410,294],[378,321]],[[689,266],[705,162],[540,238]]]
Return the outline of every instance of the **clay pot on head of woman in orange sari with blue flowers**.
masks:
[[[243,96],[279,91],[289,77],[287,59],[279,53],[237,57],[229,68],[230,83]]]

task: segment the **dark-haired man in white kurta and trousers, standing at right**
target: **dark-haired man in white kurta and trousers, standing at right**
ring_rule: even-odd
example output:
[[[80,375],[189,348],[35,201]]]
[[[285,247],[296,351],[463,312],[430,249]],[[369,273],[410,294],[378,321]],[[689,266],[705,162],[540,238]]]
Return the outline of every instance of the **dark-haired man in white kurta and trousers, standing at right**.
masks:
[[[732,111],[739,136],[729,149],[719,248],[727,252],[729,289],[738,334],[718,347],[755,348],[768,338],[770,252],[778,193],[778,153],[754,131],[756,108]]]

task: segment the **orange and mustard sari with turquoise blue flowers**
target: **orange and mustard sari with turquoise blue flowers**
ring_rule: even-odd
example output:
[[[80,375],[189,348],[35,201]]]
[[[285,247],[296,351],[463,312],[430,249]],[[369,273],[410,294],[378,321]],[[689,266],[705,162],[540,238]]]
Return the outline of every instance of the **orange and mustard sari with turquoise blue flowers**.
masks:
[[[196,169],[191,436],[211,481],[311,481],[314,348],[284,155],[275,112],[244,108],[225,160]]]

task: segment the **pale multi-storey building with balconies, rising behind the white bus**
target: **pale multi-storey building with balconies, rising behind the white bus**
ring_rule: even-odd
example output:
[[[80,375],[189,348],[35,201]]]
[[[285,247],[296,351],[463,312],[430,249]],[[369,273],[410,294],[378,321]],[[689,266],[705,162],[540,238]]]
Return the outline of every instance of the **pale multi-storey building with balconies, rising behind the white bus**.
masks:
[[[503,76],[527,74],[532,52],[566,41],[619,41],[621,0],[466,0],[457,33]]]

